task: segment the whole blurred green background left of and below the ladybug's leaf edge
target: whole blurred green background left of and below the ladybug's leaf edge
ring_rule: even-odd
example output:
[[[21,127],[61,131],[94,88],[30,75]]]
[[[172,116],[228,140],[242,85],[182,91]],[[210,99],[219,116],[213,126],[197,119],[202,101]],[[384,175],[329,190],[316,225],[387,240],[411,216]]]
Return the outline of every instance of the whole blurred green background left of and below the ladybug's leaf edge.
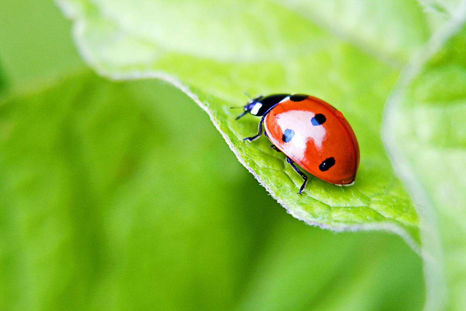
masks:
[[[82,62],[52,1],[0,1],[0,310],[421,310],[398,236],[288,215],[207,114]]]

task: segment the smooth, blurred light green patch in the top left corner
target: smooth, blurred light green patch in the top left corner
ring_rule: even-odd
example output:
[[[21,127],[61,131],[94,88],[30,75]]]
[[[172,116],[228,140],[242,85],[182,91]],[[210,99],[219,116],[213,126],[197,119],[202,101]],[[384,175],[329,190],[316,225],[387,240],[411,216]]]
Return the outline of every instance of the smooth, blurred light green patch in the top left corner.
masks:
[[[14,0],[0,3],[0,65],[14,90],[61,80],[84,63],[52,1]]]

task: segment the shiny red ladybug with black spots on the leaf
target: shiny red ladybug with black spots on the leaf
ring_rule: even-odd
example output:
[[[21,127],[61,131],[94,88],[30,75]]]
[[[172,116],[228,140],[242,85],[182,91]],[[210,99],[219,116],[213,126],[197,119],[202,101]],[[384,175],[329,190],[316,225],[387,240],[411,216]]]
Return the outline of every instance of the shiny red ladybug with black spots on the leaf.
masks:
[[[259,132],[243,140],[252,142],[262,134],[270,147],[287,156],[287,162],[304,180],[308,173],[336,185],[352,185],[359,166],[359,145],[353,129],[335,107],[314,96],[272,94],[250,99],[236,120],[250,113],[260,116]]]

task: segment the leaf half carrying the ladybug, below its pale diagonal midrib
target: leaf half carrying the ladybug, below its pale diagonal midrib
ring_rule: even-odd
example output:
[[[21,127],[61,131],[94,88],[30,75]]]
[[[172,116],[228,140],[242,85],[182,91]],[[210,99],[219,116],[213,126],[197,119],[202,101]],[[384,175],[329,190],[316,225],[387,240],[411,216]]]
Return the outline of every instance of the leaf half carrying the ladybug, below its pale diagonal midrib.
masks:
[[[158,77],[185,91],[290,214],[337,231],[391,230],[418,249],[417,212],[379,134],[397,69],[269,1],[58,3],[74,20],[78,48],[94,69],[117,79]],[[235,121],[237,111],[228,107],[244,104],[245,90],[312,94],[342,111],[361,147],[355,185],[338,187],[310,176],[298,196],[301,178],[267,138],[243,143],[258,119]]]

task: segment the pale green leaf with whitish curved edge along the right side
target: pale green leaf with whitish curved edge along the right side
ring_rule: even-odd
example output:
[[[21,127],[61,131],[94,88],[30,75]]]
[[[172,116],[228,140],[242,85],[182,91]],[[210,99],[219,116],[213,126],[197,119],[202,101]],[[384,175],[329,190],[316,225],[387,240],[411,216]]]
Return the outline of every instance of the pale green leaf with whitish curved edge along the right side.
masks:
[[[432,310],[466,306],[465,7],[405,70],[384,124],[395,167],[419,205]]]

